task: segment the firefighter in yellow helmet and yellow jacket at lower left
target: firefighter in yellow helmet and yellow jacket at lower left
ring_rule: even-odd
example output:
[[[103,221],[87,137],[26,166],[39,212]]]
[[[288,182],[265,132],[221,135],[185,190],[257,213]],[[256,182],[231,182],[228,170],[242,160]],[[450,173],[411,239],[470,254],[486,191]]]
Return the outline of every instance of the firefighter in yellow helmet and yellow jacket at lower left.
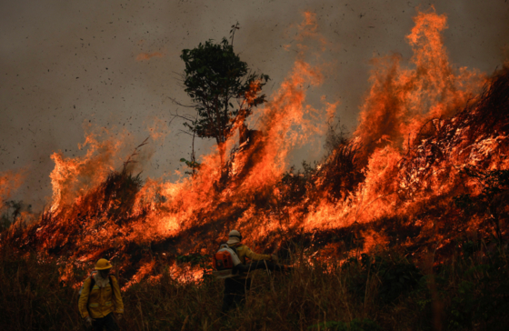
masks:
[[[80,315],[85,318],[87,326],[93,326],[95,331],[117,330],[112,313],[117,319],[124,314],[124,303],[120,296],[120,287],[115,276],[108,276],[112,265],[105,258],[95,264],[97,272],[85,279],[81,290],[78,308]],[[91,288],[92,287],[92,288]]]

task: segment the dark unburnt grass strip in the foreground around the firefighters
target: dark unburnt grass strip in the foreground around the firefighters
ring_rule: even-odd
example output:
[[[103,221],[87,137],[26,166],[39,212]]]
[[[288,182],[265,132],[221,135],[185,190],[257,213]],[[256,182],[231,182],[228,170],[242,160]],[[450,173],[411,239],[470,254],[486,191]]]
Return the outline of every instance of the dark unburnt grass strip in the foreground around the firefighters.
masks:
[[[447,263],[434,267],[433,252],[416,260],[404,251],[378,250],[341,263],[297,249],[287,260],[293,261],[291,272],[257,271],[245,307],[228,316],[220,313],[223,282],[205,277],[199,284],[183,283],[157,264],[160,277],[123,291],[126,313],[119,325],[129,330],[354,330],[355,325],[358,330],[504,330],[509,322],[507,256],[504,248],[484,240],[457,240]],[[62,266],[35,254],[2,260],[2,326],[83,329],[77,288],[58,279]],[[85,278],[86,270],[75,274]],[[125,284],[127,279],[116,275]]]

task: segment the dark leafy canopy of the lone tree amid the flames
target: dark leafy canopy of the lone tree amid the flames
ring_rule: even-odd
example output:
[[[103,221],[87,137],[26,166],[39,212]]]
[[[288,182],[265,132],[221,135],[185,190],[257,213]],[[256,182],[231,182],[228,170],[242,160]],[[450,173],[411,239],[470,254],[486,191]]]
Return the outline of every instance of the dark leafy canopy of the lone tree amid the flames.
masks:
[[[232,27],[235,33],[238,27]],[[185,92],[197,111],[185,126],[199,137],[215,138],[224,165],[225,141],[255,106],[265,102],[262,87],[270,78],[253,73],[226,38],[218,44],[208,40],[194,49],[184,49],[180,57],[185,62]]]

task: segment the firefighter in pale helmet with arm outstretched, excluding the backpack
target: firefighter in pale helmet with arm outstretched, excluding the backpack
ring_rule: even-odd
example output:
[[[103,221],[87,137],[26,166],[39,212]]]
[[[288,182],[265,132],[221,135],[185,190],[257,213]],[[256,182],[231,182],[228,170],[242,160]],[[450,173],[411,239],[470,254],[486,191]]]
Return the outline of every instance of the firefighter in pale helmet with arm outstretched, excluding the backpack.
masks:
[[[277,256],[256,254],[248,246],[242,244],[242,235],[237,230],[230,231],[228,241],[226,244],[235,248],[240,262],[245,266],[245,259],[249,258],[251,261],[274,261],[277,263]],[[245,301],[245,291],[251,287],[251,278],[248,274],[241,273],[239,276],[225,278],[225,295],[223,296],[223,307],[221,311],[226,313],[235,306],[243,306]]]

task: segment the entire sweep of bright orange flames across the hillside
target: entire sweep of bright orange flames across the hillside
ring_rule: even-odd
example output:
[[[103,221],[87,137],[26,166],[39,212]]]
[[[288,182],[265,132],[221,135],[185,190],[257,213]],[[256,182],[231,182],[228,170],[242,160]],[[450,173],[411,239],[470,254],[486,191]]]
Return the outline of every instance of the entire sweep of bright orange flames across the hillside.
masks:
[[[338,105],[324,97],[324,109],[306,105],[307,87],[323,84],[324,76],[320,65],[304,61],[304,42],[325,45],[326,40],[314,13],[304,13],[297,26],[294,67],[269,102],[248,118],[249,138],[242,144],[240,133],[228,138],[225,151],[230,157],[224,168],[215,147],[202,157],[193,176],[141,183],[125,164],[115,171],[125,160],[123,139],[128,133],[104,139],[88,134],[82,145],[85,155],[52,155],[51,209],[27,230],[23,241],[65,252],[85,264],[104,254],[128,256],[133,247],[151,252],[153,244],[174,255],[205,254],[215,248],[215,238],[232,228],[241,230],[255,250],[274,249],[302,234],[350,231],[353,244],[329,243],[325,256],[388,245],[383,231],[368,227],[380,220],[405,219],[420,226],[419,236],[438,236],[437,220],[429,221],[419,211],[450,204],[458,193],[480,192],[477,183],[461,175],[462,167],[509,165],[504,127],[483,117],[489,106],[483,97],[496,86],[476,70],[449,63],[442,38],[446,27],[446,16],[434,8],[417,13],[406,36],[414,51],[410,65],[404,66],[399,55],[375,58],[372,86],[352,139],[336,146],[312,170],[295,173],[288,172],[290,153],[324,135]],[[484,94],[474,97],[486,85]],[[259,83],[251,85],[248,102],[259,89]],[[164,137],[159,134],[164,123],[152,127],[154,139]],[[237,128],[240,131],[240,124]],[[145,253],[127,286],[155,274],[155,261]],[[172,275],[181,281],[196,281],[202,272],[171,265]]]

